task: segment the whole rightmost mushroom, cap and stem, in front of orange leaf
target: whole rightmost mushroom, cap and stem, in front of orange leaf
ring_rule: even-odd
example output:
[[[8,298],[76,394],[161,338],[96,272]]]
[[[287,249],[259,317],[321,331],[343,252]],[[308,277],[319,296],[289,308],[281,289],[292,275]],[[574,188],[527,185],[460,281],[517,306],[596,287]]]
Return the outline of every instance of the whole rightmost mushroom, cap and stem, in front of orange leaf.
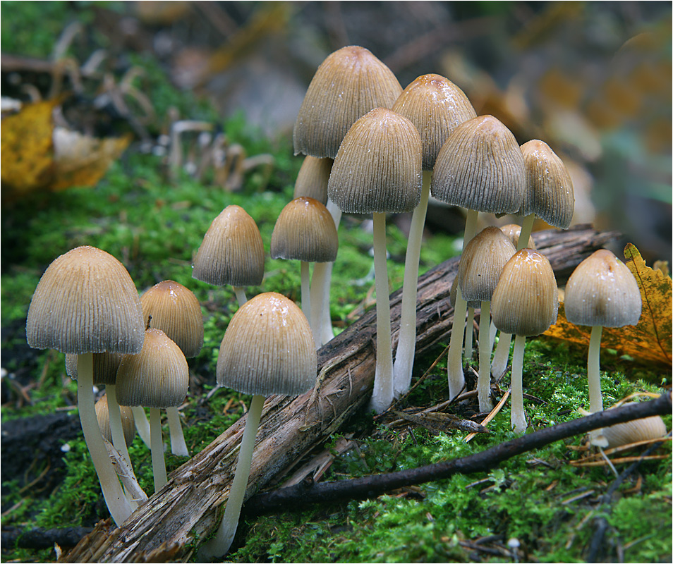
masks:
[[[607,249],[584,259],[566,283],[566,319],[591,326],[587,375],[589,411],[603,408],[600,393],[600,337],[603,327],[636,325],[641,317],[641,291],[628,266]],[[590,434],[593,444],[605,446],[600,429]]]

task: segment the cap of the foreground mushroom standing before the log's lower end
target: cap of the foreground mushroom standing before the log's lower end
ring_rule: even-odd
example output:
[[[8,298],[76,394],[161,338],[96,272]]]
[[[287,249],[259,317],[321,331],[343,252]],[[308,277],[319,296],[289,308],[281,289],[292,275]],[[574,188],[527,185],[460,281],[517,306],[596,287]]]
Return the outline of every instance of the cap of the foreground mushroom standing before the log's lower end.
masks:
[[[297,396],[315,386],[316,373],[308,321],[284,295],[258,294],[231,318],[217,357],[221,386],[261,396]]]

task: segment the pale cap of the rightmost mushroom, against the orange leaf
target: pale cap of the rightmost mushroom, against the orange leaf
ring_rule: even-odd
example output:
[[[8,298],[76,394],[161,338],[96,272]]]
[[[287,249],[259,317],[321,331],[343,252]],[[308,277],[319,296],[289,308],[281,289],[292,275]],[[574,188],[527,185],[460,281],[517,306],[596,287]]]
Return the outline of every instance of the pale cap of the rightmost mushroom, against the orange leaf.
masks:
[[[584,259],[566,283],[566,319],[576,325],[636,325],[641,319],[641,306],[636,278],[607,249]]]

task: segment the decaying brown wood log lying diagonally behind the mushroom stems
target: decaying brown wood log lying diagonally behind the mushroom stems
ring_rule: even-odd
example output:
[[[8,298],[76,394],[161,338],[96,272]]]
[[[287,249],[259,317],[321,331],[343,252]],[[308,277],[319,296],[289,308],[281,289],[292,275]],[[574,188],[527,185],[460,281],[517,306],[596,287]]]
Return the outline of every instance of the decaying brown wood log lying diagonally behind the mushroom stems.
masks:
[[[535,233],[559,281],[591,252],[617,238],[588,226]],[[447,341],[453,309],[449,290],[458,259],[449,259],[420,277],[416,353]],[[393,348],[399,329],[401,292],[391,296]],[[267,398],[259,430],[248,496],[305,453],[320,446],[354,413],[368,404],[375,372],[375,311],[367,312],[318,351],[320,388],[298,398]],[[119,528],[100,522],[63,562],[157,562],[188,553],[188,544],[204,539],[219,525],[234,477],[245,417],[171,473],[169,483],[138,508]]]

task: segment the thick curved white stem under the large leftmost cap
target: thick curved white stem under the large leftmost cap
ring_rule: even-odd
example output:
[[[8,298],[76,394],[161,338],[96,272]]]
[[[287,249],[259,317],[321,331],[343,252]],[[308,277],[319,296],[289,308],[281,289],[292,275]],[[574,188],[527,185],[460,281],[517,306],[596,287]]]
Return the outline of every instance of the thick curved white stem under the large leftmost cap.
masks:
[[[77,357],[77,407],[82,431],[91,454],[103,491],[105,503],[117,527],[131,515],[131,505],[121,489],[117,474],[112,467],[103,436],[98,427],[93,397],[93,355],[83,353]]]

